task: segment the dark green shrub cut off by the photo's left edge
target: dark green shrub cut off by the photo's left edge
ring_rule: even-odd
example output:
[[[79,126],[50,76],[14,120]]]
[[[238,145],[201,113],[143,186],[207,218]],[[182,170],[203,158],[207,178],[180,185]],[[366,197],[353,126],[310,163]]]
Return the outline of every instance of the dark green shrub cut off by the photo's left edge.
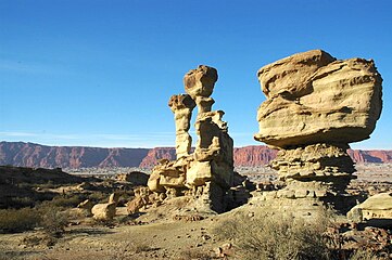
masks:
[[[0,232],[14,233],[33,230],[40,221],[36,209],[1,209]]]

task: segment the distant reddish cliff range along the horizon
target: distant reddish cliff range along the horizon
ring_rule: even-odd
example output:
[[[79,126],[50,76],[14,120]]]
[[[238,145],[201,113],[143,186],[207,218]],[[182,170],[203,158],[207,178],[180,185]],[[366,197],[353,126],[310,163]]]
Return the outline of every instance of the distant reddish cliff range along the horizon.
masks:
[[[276,156],[264,145],[235,148],[236,166],[261,166]],[[392,162],[392,151],[350,150],[355,162]],[[24,142],[0,142],[0,165],[33,168],[141,167],[151,168],[160,159],[175,159],[174,147],[99,148],[83,146],[47,146]]]

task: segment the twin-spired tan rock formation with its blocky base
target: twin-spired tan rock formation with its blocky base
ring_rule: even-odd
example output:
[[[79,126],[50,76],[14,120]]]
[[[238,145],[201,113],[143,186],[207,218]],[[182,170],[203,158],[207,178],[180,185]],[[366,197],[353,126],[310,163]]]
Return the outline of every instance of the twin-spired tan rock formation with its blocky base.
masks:
[[[167,198],[190,194],[200,205],[215,211],[225,210],[225,196],[232,185],[232,139],[223,110],[212,110],[211,98],[217,80],[215,68],[201,65],[185,75],[187,94],[173,95],[168,106],[175,115],[176,160],[163,159],[153,168],[148,185]],[[198,142],[191,153],[188,133],[192,109],[198,106],[195,132]]]

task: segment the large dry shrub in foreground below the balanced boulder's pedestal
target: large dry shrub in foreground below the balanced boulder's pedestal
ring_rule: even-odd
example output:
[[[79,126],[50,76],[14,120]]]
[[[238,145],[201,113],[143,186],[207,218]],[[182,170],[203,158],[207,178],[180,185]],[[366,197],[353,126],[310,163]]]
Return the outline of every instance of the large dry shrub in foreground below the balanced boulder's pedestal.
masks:
[[[329,249],[323,236],[326,223],[283,213],[264,218],[238,216],[223,221],[213,233],[232,239],[241,259],[328,259]]]

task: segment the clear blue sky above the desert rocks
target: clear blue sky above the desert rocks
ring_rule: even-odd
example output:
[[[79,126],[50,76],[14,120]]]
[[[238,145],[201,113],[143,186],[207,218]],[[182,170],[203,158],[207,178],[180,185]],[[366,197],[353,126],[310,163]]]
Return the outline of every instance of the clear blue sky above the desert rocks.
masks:
[[[352,147],[391,150],[391,13],[389,0],[0,0],[0,141],[173,146],[167,101],[205,64],[235,145],[262,144],[257,69],[323,49],[375,60],[383,112]]]

